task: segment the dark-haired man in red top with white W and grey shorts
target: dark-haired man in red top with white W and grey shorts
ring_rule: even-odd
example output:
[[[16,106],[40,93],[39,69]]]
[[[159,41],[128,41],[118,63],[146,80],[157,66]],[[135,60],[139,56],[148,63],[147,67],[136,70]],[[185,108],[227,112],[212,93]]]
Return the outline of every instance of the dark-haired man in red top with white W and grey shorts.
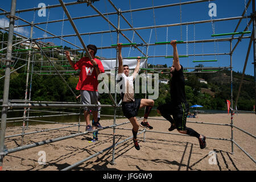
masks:
[[[77,63],[73,63],[68,51],[65,51],[67,59],[71,67],[75,70],[80,69],[79,82],[77,83],[76,90],[80,90],[82,104],[93,105],[98,101],[98,80],[97,77],[100,73],[104,73],[104,67],[100,60],[96,59],[95,55],[97,47],[90,44],[87,49],[92,56],[92,60],[89,56],[82,57]],[[93,126],[98,129],[102,129],[102,126],[98,122],[97,107],[84,107],[84,117],[86,121],[86,131],[93,131],[90,125],[89,110],[92,110],[94,122]]]

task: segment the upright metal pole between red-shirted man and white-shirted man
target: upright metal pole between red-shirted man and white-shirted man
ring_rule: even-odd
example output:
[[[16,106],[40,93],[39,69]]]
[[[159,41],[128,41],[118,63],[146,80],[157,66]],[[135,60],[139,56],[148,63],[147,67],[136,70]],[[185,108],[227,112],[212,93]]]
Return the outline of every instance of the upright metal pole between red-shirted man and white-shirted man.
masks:
[[[120,15],[121,15],[121,9],[118,9],[118,31],[117,31],[117,44],[119,43],[119,30],[120,30]],[[117,56],[116,56],[116,61],[115,61],[115,78],[117,77],[117,71],[118,71],[118,49],[117,49]],[[110,72],[111,74],[111,72]],[[117,80],[115,79],[115,86],[117,85]],[[117,91],[115,90],[115,96],[114,96],[114,101],[117,103]],[[115,122],[115,117],[117,114],[117,107],[114,108],[114,123],[113,125],[116,124]],[[113,127],[113,152],[112,152],[112,162],[111,164],[115,164],[115,126]]]

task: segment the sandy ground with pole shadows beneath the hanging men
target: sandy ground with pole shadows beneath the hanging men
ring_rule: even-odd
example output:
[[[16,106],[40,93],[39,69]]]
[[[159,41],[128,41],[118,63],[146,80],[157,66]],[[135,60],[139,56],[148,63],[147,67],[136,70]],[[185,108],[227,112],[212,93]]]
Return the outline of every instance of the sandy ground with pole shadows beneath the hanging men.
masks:
[[[199,114],[199,118],[188,118],[192,122],[208,123],[230,123],[230,114]],[[154,117],[160,118],[162,117]],[[117,119],[117,123],[127,122],[127,119]],[[168,121],[159,121],[148,119],[151,126],[150,131],[162,131],[166,133],[178,134],[178,132],[168,131],[170,123]],[[84,122],[82,123],[84,124]],[[113,125],[113,120],[101,121],[102,126]],[[255,114],[238,114],[234,115],[234,125],[255,135],[256,134],[256,116]],[[31,131],[40,131],[44,129],[53,129],[67,125],[47,124],[30,126],[26,133]],[[234,154],[231,150],[231,142],[226,140],[209,139],[212,138],[231,138],[230,126],[205,125],[199,123],[188,123],[187,126],[193,128],[200,134],[207,137],[207,147],[200,149],[199,142],[194,137],[151,133],[146,132],[145,142],[143,134],[138,135],[141,150],[137,151],[131,139],[115,147],[114,165],[112,162],[113,150],[106,150],[100,155],[87,160],[79,167],[73,170],[146,170],[146,171],[241,171],[256,170],[256,164],[246,156],[235,144]],[[119,126],[122,129],[115,130],[115,143],[131,137],[131,124]],[[129,129],[129,130],[123,130]],[[142,128],[140,130],[143,130]],[[40,142],[47,139],[63,137],[65,135],[76,134],[78,127],[68,129],[52,130],[43,133],[25,135],[24,144]],[[81,126],[81,131],[85,127]],[[148,130],[147,130],[148,131]],[[20,134],[22,127],[9,127],[6,129],[6,136]],[[248,154],[256,159],[256,142],[253,137],[242,133],[242,131],[233,129],[234,141],[238,143]],[[30,148],[23,151],[13,152],[5,156],[3,160],[3,170],[61,170],[65,167],[75,164],[90,155],[96,154],[112,146],[113,129],[105,129],[98,134],[99,141],[89,143],[92,139],[92,133],[79,137],[61,140]],[[6,138],[5,144],[8,149],[19,147],[21,137]],[[39,164],[38,160],[42,158],[42,153],[46,154],[46,163]],[[214,155],[210,153],[214,151]],[[210,153],[210,155],[209,155]],[[41,154],[41,155],[39,155]],[[39,160],[40,161],[40,160]],[[41,160],[42,161],[42,160]]]

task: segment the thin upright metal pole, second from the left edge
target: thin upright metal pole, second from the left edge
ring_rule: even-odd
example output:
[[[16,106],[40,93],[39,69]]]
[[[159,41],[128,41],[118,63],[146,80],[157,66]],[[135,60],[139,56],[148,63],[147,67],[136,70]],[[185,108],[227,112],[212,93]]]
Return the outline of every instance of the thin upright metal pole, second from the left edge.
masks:
[[[31,29],[30,29],[30,47],[32,48],[32,35],[33,35],[33,27],[34,22],[31,23]],[[28,77],[30,76],[30,59],[31,59],[31,51],[28,51],[28,61],[27,61],[27,78],[26,78],[26,89],[25,89],[25,104],[27,104],[27,89],[28,89]],[[22,125],[22,142],[21,145],[23,145],[23,139],[24,139],[24,131],[25,131],[25,123],[26,123],[26,113],[27,108],[24,107],[24,113],[23,113],[23,125]]]

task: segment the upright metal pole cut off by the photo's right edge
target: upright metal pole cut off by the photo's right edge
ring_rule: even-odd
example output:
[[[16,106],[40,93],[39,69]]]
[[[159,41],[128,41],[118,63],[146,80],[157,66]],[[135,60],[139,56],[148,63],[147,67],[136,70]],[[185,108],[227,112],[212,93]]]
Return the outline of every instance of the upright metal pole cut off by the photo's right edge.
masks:
[[[253,0],[253,60],[254,60],[254,90],[255,90],[255,106],[256,106],[256,19],[255,19],[255,0]],[[256,114],[256,109],[255,109]]]

